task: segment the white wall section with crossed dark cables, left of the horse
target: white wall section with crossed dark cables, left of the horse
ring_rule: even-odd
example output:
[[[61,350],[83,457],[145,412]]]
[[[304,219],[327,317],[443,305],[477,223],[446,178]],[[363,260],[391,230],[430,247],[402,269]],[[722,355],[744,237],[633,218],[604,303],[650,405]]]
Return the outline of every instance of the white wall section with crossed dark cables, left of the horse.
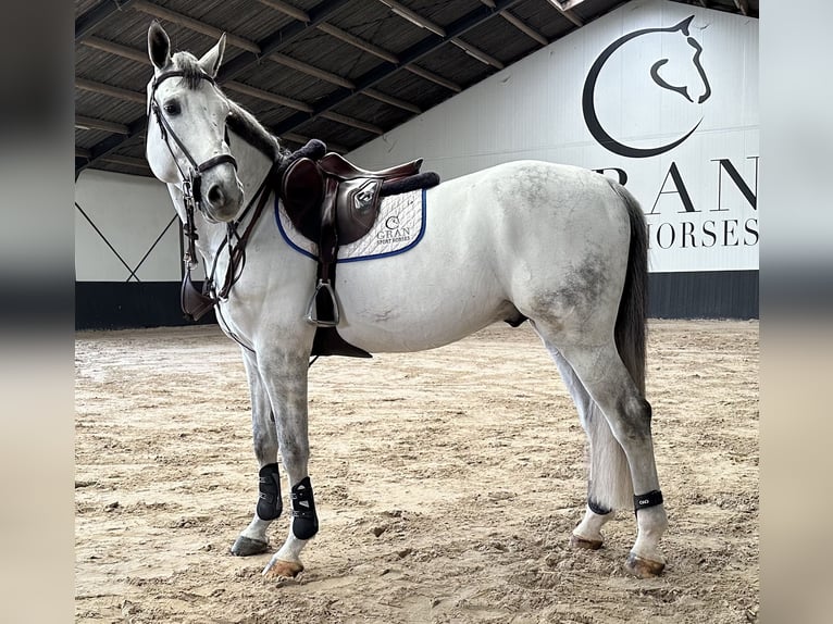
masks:
[[[165,186],[156,178],[85,170],[75,202],[119,252],[129,270],[75,208],[75,279],[78,282],[178,282],[179,220]],[[165,232],[165,228],[167,230]],[[135,277],[157,237],[165,232]]]

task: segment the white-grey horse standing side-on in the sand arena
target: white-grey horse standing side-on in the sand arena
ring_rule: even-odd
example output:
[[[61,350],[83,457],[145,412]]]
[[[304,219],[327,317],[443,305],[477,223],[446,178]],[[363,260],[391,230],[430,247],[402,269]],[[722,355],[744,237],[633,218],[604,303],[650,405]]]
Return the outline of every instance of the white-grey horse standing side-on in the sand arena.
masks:
[[[232,552],[269,547],[268,528],[282,511],[279,453],[293,514],[286,541],[263,574],[293,577],[303,570],[301,550],[318,532],[307,472],[307,374],[315,327],[304,319],[316,263],[287,245],[271,215],[251,223],[244,209],[244,198],[253,198],[273,163],[287,154],[216,88],[224,42],[199,60],[172,55],[162,27],[150,26],[156,68],[148,85],[147,159],[215,275],[225,275],[234,232],[249,229],[245,265],[215,308],[222,329],[243,346],[260,465],[254,517]],[[274,202],[270,188],[265,196]],[[625,567],[641,577],[658,575],[668,521],[644,398],[647,241],[637,202],[601,175],[534,161],[445,182],[426,191],[426,201],[419,245],[338,265],[337,332],[368,352],[410,352],[497,321],[529,320],[589,439],[587,507],[571,542],[599,548],[600,529],[614,510],[636,509],[638,533]]]

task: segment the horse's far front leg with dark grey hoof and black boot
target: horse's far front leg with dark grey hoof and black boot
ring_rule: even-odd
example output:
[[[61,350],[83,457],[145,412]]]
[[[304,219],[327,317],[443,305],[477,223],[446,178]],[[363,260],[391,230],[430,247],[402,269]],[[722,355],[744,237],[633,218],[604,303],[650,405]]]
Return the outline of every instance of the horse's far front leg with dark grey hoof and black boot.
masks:
[[[258,502],[249,526],[232,546],[232,554],[249,557],[269,549],[266,529],[283,511],[281,477],[277,469],[277,432],[269,392],[258,370],[253,353],[244,351],[246,375],[251,392],[251,433],[258,459]]]

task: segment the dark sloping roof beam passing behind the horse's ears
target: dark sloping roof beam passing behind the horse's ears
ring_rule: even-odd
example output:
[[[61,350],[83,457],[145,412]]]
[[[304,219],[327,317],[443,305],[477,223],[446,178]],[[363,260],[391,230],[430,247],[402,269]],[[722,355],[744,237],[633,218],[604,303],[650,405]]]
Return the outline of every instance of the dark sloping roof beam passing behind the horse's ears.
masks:
[[[137,0],[138,1],[138,0]],[[261,49],[261,52],[264,54],[271,54],[273,52],[276,52],[281,50],[282,48],[287,47],[289,43],[295,41],[298,37],[302,36],[308,28],[315,26],[318,23],[325,21],[327,17],[334,15],[337,11],[340,11],[350,0],[322,0],[319,4],[316,4],[313,9],[309,12],[310,21],[309,23],[300,23],[295,22],[293,24],[289,24],[288,26],[285,26],[284,28],[279,28],[269,37],[265,37],[263,40],[258,41],[258,47]],[[76,32],[77,32],[77,22],[76,22]],[[85,41],[88,43],[88,41]],[[117,46],[117,45],[116,45]],[[147,57],[145,55],[145,59]],[[245,51],[240,54],[238,54],[236,58],[232,59],[228,63],[223,65],[220,68],[220,73],[217,75],[217,80],[222,84],[227,80],[233,79],[241,72],[246,71],[252,65],[256,65],[260,61],[260,55],[256,54],[251,51]],[[105,157],[110,154],[111,152],[115,151],[120,147],[126,145],[128,141],[132,141],[136,139],[139,136],[144,135],[145,128],[147,127],[148,117],[147,115],[141,115],[140,117],[134,120],[127,125],[128,134],[127,136],[113,134],[110,137],[105,138],[104,140],[100,141],[92,148],[90,148],[90,157],[89,158],[76,158],[75,159],[75,177],[77,178],[78,174],[94,164],[98,159]]]

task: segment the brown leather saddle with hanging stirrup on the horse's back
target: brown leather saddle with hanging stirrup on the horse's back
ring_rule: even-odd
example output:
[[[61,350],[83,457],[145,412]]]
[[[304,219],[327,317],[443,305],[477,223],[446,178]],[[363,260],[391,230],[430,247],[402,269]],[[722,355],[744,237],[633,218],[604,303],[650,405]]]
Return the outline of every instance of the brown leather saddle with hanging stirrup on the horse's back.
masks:
[[[312,146],[312,141],[308,145]],[[422,159],[368,171],[335,152],[318,155],[310,150],[310,155],[295,160],[281,182],[287,216],[319,249],[318,283],[307,307],[307,321],[319,327],[313,354],[370,357],[335,332],[339,322],[334,286],[338,248],[371,230],[383,197],[436,186],[439,176],[420,173]]]

